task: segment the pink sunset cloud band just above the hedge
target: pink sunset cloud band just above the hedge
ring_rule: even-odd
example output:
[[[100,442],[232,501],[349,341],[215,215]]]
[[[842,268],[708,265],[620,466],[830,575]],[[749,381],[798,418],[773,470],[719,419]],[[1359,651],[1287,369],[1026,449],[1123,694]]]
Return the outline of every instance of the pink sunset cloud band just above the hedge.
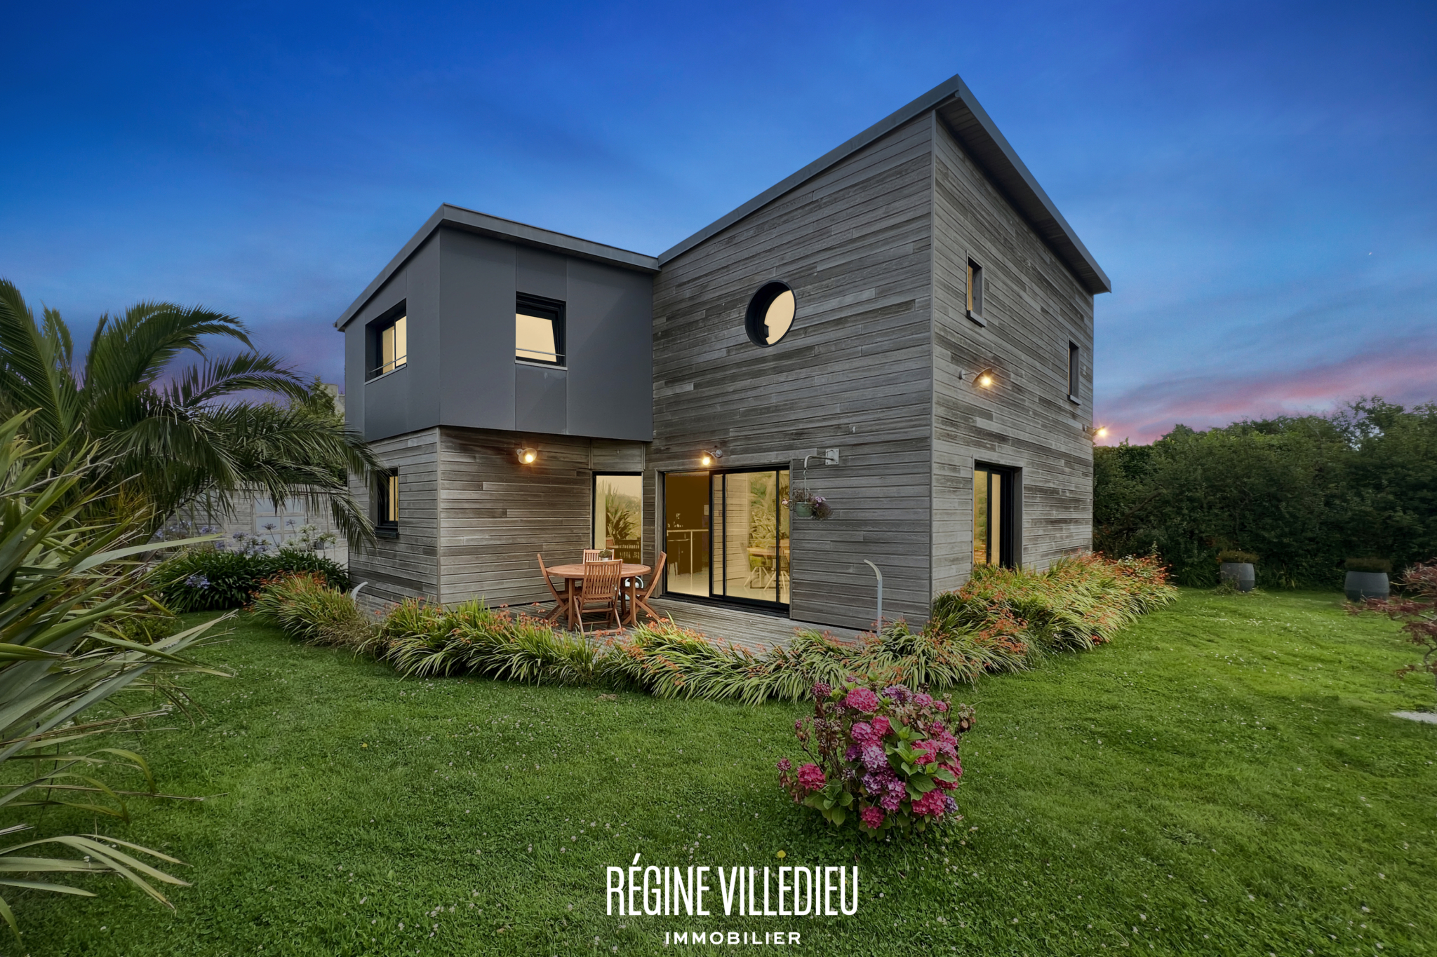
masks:
[[[1405,347],[1344,362],[1233,376],[1154,382],[1098,403],[1102,445],[1152,442],[1183,423],[1210,429],[1240,419],[1331,412],[1357,396],[1415,405],[1437,400],[1437,347]]]

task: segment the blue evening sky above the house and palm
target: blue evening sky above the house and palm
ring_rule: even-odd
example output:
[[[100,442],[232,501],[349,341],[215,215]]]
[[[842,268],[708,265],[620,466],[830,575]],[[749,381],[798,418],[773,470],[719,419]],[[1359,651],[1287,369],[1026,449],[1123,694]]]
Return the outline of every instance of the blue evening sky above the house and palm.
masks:
[[[1114,283],[1096,418],[1151,439],[1437,399],[1434,3],[30,4],[0,275],[85,334],[331,329],[440,202],[658,253],[960,73]]]

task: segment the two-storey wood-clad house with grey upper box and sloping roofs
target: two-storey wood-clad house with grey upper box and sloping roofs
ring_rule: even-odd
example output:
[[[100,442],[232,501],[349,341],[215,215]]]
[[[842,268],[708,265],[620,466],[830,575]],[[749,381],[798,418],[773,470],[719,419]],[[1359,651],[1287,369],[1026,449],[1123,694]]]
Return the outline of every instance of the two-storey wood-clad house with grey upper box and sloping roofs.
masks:
[[[336,323],[389,468],[354,574],[522,603],[536,552],[665,551],[668,595],[864,627],[867,560],[921,620],[1089,547],[1108,290],[958,77],[657,257],[440,207]]]

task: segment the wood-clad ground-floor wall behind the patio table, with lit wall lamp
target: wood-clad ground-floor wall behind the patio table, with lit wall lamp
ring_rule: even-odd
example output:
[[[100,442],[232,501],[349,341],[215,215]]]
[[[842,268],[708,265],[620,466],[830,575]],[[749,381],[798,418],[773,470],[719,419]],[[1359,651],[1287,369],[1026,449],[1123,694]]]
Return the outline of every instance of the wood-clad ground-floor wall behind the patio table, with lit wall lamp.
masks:
[[[537,451],[520,465],[514,451]],[[638,472],[638,442],[440,429],[441,594],[447,604],[549,601],[539,574],[573,562],[593,534],[593,472]]]

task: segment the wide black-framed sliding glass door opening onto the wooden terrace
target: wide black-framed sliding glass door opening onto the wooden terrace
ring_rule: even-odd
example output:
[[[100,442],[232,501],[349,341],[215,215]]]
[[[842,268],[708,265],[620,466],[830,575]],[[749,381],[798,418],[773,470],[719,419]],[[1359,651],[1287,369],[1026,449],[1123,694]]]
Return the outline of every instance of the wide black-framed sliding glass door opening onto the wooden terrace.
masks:
[[[789,604],[787,469],[665,475],[664,489],[670,593]]]

